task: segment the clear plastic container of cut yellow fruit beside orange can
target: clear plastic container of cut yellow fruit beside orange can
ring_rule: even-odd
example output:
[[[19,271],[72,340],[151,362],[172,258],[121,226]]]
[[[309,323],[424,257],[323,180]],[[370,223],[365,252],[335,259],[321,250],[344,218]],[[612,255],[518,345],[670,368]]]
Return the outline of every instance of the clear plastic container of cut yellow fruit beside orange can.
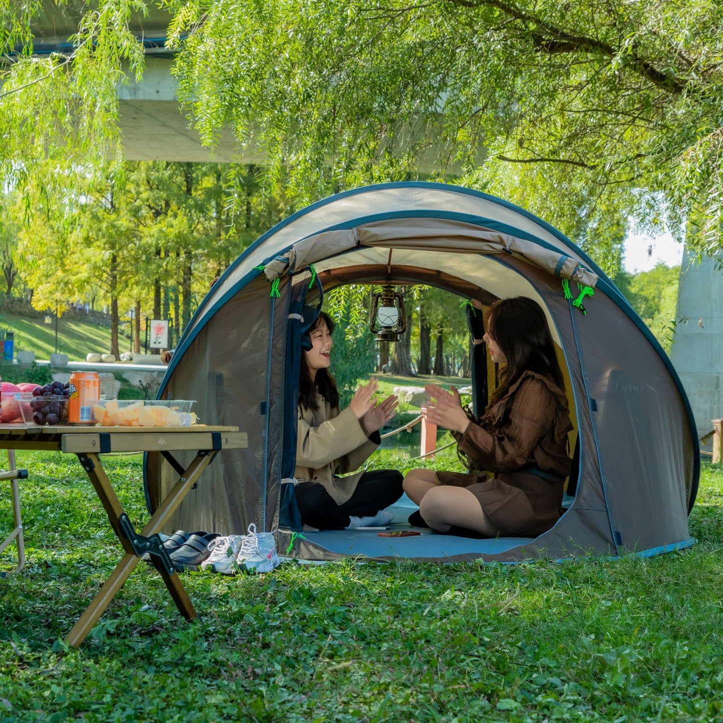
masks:
[[[195,401],[186,399],[106,399],[93,405],[95,421],[103,427],[190,427]]]

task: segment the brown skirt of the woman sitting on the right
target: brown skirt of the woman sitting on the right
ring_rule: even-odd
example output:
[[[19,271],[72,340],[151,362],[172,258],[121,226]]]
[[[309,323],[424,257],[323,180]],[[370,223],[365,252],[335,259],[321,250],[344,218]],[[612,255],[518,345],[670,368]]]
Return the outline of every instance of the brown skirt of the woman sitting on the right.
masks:
[[[529,472],[504,472],[498,478],[484,474],[437,472],[440,484],[465,487],[502,537],[537,537],[562,514],[564,482],[548,482]]]

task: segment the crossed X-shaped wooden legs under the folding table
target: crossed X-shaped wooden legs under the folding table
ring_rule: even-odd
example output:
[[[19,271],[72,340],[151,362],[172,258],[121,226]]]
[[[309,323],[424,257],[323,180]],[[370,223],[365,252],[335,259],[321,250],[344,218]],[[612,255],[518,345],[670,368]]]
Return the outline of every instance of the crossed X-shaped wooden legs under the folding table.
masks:
[[[141,532],[142,536],[150,536],[161,531],[161,527],[166,521],[166,518],[174,513],[174,510],[181,504],[191,487],[197,482],[202,471],[204,471],[213,460],[215,454],[215,452],[199,453],[199,455],[194,458],[179,481],[174,484],[166,499],[163,500],[158,507],[158,510],[155,510],[155,513],[143,528]],[[121,501],[118,499],[115,490],[111,487],[111,482],[106,475],[106,471],[100,463],[100,457],[95,453],[91,453],[79,454],[78,458],[83,469],[87,472],[90,482],[93,484],[95,492],[103,504],[103,508],[105,508],[108,514],[108,520],[123,545],[126,555],[124,555],[121,562],[116,565],[111,576],[103,583],[98,594],[95,595],[80,616],[80,619],[73,625],[72,630],[65,638],[65,642],[74,648],[80,646],[80,643],[85,640],[87,634],[93,629],[93,625],[98,622],[98,619],[103,615],[111,600],[118,594],[118,591],[125,581],[127,581],[138,562],[140,562],[140,557],[135,554],[132,544],[121,530],[120,515],[124,511],[123,505],[121,505]],[[176,573],[169,575],[164,570],[159,570],[159,572],[181,615],[187,620],[192,620],[196,617],[196,610],[179,576],[176,575]]]

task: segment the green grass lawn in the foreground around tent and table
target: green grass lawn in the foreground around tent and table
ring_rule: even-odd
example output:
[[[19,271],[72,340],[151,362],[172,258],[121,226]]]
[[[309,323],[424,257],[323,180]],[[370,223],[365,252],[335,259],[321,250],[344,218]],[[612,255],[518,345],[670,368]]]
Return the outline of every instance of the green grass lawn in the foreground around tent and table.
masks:
[[[80,651],[63,651],[121,551],[77,461],[18,457],[28,562],[0,579],[0,721],[723,719],[721,466],[703,467],[698,543],[683,552],[184,573],[193,623],[140,565]],[[104,460],[140,528],[140,457]],[[0,535],[11,526],[0,483]]]

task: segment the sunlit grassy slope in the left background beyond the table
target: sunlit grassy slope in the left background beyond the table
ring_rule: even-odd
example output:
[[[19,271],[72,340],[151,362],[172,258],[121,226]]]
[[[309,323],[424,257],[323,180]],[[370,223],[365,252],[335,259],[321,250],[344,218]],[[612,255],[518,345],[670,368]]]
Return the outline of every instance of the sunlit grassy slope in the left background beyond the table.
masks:
[[[50,359],[55,352],[55,317],[46,324],[43,317],[16,316],[3,312],[0,329],[13,331],[15,351],[32,351],[35,359]],[[121,337],[121,351],[130,351],[130,341]],[[85,361],[90,352],[109,354],[111,351],[111,330],[69,317],[58,320],[58,353],[67,354],[71,361]]]

